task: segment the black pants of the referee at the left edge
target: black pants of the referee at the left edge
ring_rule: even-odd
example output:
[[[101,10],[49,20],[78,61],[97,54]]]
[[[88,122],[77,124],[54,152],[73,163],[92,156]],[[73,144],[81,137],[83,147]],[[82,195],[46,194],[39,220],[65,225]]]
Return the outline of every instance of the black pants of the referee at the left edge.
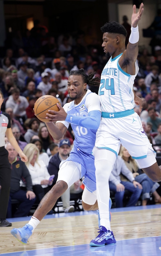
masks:
[[[0,147],[0,219],[5,219],[10,195],[11,167],[8,161],[8,151]]]

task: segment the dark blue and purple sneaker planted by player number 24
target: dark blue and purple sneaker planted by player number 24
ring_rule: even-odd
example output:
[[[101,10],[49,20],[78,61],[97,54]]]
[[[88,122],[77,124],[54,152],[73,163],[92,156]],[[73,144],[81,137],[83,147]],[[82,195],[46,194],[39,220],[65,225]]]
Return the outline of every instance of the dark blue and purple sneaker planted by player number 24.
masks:
[[[90,246],[103,246],[106,244],[116,243],[113,232],[107,230],[104,226],[100,226],[99,235],[90,241]]]

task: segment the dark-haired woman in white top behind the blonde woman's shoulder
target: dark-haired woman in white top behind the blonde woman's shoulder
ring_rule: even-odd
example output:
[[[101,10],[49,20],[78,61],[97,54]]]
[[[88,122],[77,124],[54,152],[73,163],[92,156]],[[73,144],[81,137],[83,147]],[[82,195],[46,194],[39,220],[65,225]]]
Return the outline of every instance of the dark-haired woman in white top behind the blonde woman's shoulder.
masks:
[[[30,143],[33,143],[33,144],[36,145],[36,147],[38,147],[38,149],[39,149],[39,159],[42,160],[44,162],[45,166],[48,167],[49,160],[50,160],[49,155],[43,149],[43,143],[40,140],[40,138],[31,139]]]

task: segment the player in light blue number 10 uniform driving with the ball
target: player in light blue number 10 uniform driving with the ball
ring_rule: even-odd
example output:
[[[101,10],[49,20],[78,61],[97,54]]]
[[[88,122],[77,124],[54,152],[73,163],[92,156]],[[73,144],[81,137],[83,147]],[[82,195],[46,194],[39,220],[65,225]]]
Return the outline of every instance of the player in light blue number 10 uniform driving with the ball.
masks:
[[[73,129],[74,147],[67,160],[62,161],[56,184],[47,193],[33,214],[29,223],[23,228],[11,231],[20,242],[27,243],[35,227],[53,208],[57,199],[77,180],[85,177],[85,188],[82,194],[82,206],[85,210],[97,210],[96,180],[94,156],[91,154],[95,144],[96,131],[100,124],[101,108],[99,96],[87,90],[88,85],[99,86],[100,79],[89,76],[84,70],[71,71],[68,78],[68,93],[73,100],[66,103],[58,112],[49,110],[46,126],[53,138],[59,140],[65,134],[69,124]],[[58,121],[56,124],[54,121]],[[109,200],[111,207],[111,200]]]

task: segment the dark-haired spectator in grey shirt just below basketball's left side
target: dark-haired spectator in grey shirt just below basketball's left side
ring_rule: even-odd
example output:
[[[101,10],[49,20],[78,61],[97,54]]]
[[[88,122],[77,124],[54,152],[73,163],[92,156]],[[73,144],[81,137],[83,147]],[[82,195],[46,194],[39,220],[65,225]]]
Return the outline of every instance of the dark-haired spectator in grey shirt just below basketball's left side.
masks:
[[[30,143],[30,140],[33,135],[38,135],[39,124],[40,124],[40,121],[36,117],[31,118],[29,120],[28,122],[29,129],[27,129],[26,133],[24,134],[24,139],[27,143]]]

